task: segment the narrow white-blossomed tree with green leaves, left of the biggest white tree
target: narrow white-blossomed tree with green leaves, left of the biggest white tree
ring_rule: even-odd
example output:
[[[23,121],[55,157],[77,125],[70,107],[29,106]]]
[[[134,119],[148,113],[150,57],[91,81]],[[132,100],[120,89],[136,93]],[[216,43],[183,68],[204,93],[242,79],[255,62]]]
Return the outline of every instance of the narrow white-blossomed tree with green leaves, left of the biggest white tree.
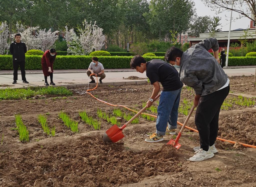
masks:
[[[74,29],[72,28],[72,29],[68,30],[68,26],[66,26],[65,28],[66,28],[66,34],[65,34],[64,38],[66,38],[66,41],[67,41],[68,55],[69,54],[83,55],[84,52],[82,50],[82,45],[79,41],[79,37],[74,32]]]

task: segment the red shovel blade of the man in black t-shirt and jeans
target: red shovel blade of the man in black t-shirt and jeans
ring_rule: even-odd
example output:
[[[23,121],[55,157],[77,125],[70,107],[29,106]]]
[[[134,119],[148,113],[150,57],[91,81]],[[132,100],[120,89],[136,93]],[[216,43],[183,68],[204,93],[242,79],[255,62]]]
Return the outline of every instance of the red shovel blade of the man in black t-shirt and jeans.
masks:
[[[122,129],[119,128],[116,124],[109,128],[103,135],[104,142],[117,142],[124,138]]]

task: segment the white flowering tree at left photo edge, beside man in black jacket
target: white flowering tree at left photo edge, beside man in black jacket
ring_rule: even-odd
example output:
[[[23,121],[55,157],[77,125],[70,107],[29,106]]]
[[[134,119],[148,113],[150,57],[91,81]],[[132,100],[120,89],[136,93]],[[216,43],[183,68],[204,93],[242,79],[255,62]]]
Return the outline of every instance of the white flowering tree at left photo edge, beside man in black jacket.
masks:
[[[8,28],[8,25],[5,22],[2,22],[2,24],[0,25],[0,55],[3,55],[5,54],[5,51],[6,51],[6,54],[8,54],[8,43],[7,43],[7,39],[8,39],[8,36],[9,36],[9,28]]]

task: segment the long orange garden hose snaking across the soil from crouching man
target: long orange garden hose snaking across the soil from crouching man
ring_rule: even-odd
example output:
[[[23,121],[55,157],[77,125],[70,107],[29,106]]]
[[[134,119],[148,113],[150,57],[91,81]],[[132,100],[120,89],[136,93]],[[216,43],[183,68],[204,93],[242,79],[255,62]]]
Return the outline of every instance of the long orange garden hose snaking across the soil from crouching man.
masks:
[[[91,76],[91,75],[92,75],[92,74],[90,74],[90,76]],[[96,76],[96,78],[97,78],[97,85],[96,85],[96,87],[93,88],[93,89],[87,90],[86,93],[90,94],[94,99],[97,99],[98,101],[103,102],[103,103],[105,103],[105,104],[108,104],[108,105],[111,105],[111,106],[121,106],[121,107],[124,107],[124,108],[126,108],[126,109],[128,109],[128,110],[130,110],[130,111],[133,111],[133,112],[138,113],[138,111],[133,110],[133,109],[130,109],[130,108],[126,107],[126,106],[123,106],[123,105],[113,105],[113,104],[110,104],[110,103],[108,103],[108,102],[102,101],[102,100],[100,100],[100,99],[94,97],[91,93],[89,93],[89,91],[95,90],[95,89],[98,87],[98,77]],[[147,116],[151,116],[151,117],[154,117],[154,118],[157,117],[157,116],[155,116],[155,115],[151,115],[151,114],[147,114],[147,113],[141,113],[141,114],[145,114],[145,115],[147,115]],[[177,121],[177,123],[178,123],[179,125],[183,126],[182,123],[180,123],[180,122],[178,122],[178,121]],[[192,130],[192,131],[195,131],[195,132],[198,133],[198,130],[196,130],[196,129],[193,129],[193,128],[188,127],[188,126],[185,126],[185,127],[186,127],[187,129],[189,129],[189,130]],[[217,140],[221,140],[221,141],[223,141],[223,142],[229,142],[229,143],[233,143],[233,144],[239,143],[239,144],[241,144],[241,145],[243,145],[243,146],[246,146],[246,147],[253,147],[253,148],[256,148],[255,145],[249,145],[249,144],[245,144],[245,143],[235,142],[235,141],[226,140],[226,139],[222,139],[222,138],[218,138],[218,137],[217,137],[216,139],[217,139]]]

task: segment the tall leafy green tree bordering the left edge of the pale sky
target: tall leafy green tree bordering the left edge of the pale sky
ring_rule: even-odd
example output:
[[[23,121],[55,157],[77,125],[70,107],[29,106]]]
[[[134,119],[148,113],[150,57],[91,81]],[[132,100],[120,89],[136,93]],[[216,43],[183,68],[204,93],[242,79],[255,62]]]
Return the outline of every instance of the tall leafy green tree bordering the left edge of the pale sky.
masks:
[[[194,14],[194,6],[194,2],[188,0],[152,0],[149,5],[150,11],[144,16],[151,32],[158,36],[159,40],[169,38],[171,41],[171,33],[177,36],[188,30]]]

